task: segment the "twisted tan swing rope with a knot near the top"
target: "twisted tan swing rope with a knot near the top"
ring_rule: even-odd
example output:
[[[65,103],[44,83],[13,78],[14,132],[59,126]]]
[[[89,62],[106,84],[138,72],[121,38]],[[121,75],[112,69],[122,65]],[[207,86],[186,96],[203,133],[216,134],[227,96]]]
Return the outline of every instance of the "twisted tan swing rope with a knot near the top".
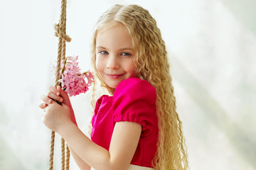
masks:
[[[71,38],[66,35],[66,8],[67,8],[67,0],[61,1],[61,11],[60,11],[60,21],[58,24],[54,25],[55,28],[55,36],[59,38],[58,41],[58,58],[57,58],[57,67],[55,72],[55,86],[59,85],[58,80],[60,79],[60,62],[61,60],[65,60],[65,42],[70,42]],[[59,103],[61,105],[61,103]],[[54,140],[55,140],[55,132],[51,132],[50,139],[50,162],[49,162],[49,170],[53,170],[53,154],[54,154]],[[65,159],[65,140],[61,138],[61,166],[62,170],[69,170],[70,163],[70,149],[68,145],[66,146],[66,159]]]

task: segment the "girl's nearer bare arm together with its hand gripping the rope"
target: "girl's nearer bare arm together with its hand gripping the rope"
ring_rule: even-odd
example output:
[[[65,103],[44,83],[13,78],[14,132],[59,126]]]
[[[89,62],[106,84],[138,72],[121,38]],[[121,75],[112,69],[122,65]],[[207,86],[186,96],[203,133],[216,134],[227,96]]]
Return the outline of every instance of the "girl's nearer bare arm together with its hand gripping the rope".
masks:
[[[58,91],[62,96],[63,91],[60,89]],[[46,111],[43,114],[43,123],[50,130],[58,132],[68,142],[68,146],[75,152],[73,155],[80,157],[78,162],[82,159],[96,170],[127,169],[139,142],[142,132],[141,125],[131,122],[116,123],[110,142],[110,149],[107,151],[92,142],[74,124],[72,119],[74,115],[70,112],[69,106],[64,102],[62,106],[53,101],[49,102],[50,98],[42,96],[42,100],[46,102],[47,106],[40,106]]]

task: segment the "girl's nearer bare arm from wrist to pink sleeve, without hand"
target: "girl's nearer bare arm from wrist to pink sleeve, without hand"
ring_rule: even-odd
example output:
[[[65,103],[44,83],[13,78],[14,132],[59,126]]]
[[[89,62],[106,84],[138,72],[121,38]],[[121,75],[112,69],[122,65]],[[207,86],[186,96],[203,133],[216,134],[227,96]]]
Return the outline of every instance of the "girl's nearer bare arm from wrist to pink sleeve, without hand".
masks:
[[[137,123],[116,123],[108,152],[92,142],[72,122],[58,130],[79,157],[96,170],[127,169],[137,148],[141,132],[142,127]]]

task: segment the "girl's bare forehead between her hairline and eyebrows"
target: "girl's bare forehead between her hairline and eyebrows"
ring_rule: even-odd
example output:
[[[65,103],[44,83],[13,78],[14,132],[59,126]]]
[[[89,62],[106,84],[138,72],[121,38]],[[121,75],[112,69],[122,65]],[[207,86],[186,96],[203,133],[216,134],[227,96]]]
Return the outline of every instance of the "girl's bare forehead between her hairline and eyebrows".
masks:
[[[132,37],[127,28],[120,22],[114,22],[97,31],[96,46],[103,47],[132,47]]]

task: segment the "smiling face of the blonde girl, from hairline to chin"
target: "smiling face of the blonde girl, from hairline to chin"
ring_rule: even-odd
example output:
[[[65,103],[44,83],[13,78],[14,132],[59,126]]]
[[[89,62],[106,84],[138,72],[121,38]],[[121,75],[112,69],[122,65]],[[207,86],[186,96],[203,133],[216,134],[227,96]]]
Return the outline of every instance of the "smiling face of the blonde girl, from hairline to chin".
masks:
[[[96,68],[113,89],[120,81],[137,77],[132,38],[122,23],[99,30],[96,38]]]

